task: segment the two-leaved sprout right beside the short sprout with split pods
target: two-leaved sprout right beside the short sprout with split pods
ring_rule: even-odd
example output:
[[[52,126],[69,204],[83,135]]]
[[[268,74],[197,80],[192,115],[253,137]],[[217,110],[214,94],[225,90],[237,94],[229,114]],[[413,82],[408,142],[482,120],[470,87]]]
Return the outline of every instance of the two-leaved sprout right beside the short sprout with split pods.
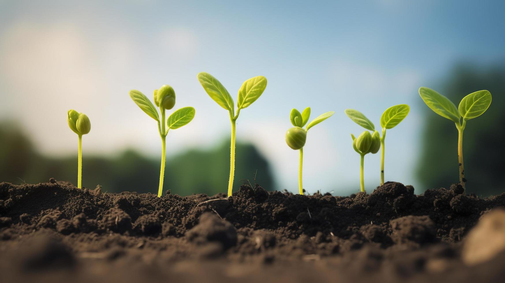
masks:
[[[380,137],[381,142],[381,157],[380,157],[380,184],[384,184],[384,151],[386,140],[386,130],[392,129],[398,125],[407,115],[409,115],[410,107],[407,104],[398,104],[391,106],[380,117],[380,125],[382,127],[382,136]],[[364,127],[367,130],[375,131],[375,126],[372,121],[370,121],[363,113],[354,109],[345,109],[345,114],[352,121],[358,125]]]

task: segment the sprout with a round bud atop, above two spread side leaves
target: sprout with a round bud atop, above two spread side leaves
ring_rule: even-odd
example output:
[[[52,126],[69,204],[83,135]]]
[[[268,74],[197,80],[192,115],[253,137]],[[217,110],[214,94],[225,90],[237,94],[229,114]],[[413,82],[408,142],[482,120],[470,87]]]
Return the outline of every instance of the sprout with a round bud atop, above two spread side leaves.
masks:
[[[195,110],[193,107],[183,107],[174,111],[165,122],[165,110],[170,110],[175,105],[175,91],[170,85],[162,85],[160,89],[155,89],[153,100],[155,105],[160,108],[158,110],[150,102],[150,100],[140,91],[130,90],[130,98],[135,102],[145,114],[155,119],[158,122],[158,132],[161,137],[161,169],[160,169],[160,187],[158,188],[158,197],[161,197],[163,192],[163,175],[165,174],[165,155],[166,155],[166,138],[170,129],[180,128],[191,122],[194,118]]]

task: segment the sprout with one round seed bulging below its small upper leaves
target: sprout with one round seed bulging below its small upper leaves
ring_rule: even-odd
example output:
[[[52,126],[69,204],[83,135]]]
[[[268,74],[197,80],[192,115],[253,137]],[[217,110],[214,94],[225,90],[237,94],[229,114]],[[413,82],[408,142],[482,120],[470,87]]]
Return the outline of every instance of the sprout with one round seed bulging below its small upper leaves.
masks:
[[[307,124],[309,117],[311,116],[311,108],[307,107],[303,112],[301,112],[301,114],[294,108],[291,110],[289,119],[294,127],[286,131],[286,144],[293,150],[299,150],[300,152],[300,161],[298,166],[298,190],[300,195],[304,194],[304,187],[301,182],[301,172],[304,163],[304,146],[305,141],[307,140],[307,132],[310,128],[330,118],[333,114],[335,114],[334,111],[321,114],[316,119],[312,120],[305,129],[303,129],[302,127]]]

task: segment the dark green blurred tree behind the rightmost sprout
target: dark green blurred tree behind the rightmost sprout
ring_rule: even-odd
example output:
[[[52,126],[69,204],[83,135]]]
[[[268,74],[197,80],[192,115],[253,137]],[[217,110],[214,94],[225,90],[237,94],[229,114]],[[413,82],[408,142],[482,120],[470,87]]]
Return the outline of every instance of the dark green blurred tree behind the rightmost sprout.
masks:
[[[458,107],[470,93],[487,89],[493,97],[482,116],[469,120],[463,134],[463,158],[467,192],[486,197],[505,192],[503,158],[505,157],[505,64],[480,67],[462,63],[443,78],[439,87],[431,87],[448,97]],[[426,85],[430,87],[429,85]],[[422,134],[422,151],[417,175],[424,188],[448,187],[459,182],[458,130],[428,107]]]

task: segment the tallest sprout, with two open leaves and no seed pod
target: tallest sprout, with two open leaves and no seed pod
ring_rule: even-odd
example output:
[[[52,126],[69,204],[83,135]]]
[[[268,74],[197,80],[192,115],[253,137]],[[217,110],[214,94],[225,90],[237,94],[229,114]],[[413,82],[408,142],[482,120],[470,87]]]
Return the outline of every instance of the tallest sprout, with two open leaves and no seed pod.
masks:
[[[240,109],[244,109],[255,102],[263,93],[267,87],[267,78],[264,76],[257,76],[250,78],[244,83],[238,90],[237,99],[237,112],[234,114],[234,102],[230,96],[230,93],[226,88],[219,82],[218,79],[213,77],[209,73],[201,72],[197,75],[198,81],[201,86],[204,87],[207,94],[215,101],[219,106],[228,110],[231,121],[231,147],[230,147],[230,179],[228,181],[228,197],[231,196],[233,188],[233,177],[235,173],[235,122],[237,121]]]

